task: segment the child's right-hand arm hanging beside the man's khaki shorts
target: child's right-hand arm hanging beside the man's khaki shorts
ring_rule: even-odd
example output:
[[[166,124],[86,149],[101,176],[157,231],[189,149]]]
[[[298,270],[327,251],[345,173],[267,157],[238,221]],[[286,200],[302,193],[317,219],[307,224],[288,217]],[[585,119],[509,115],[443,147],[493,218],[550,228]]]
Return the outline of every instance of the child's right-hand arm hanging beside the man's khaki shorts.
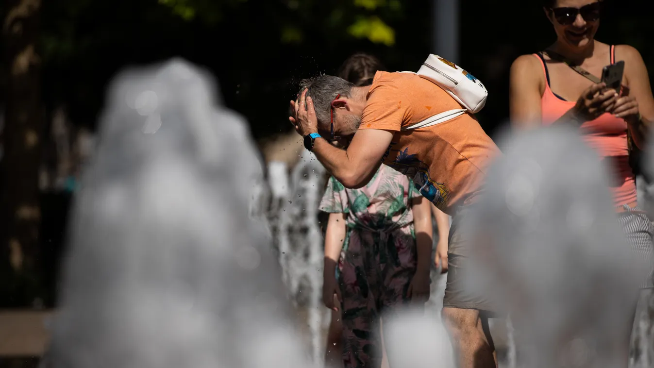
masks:
[[[417,265],[407,296],[412,299],[424,298],[424,301],[429,299],[429,274],[432,258],[432,212],[430,206],[431,203],[422,197],[411,199]]]

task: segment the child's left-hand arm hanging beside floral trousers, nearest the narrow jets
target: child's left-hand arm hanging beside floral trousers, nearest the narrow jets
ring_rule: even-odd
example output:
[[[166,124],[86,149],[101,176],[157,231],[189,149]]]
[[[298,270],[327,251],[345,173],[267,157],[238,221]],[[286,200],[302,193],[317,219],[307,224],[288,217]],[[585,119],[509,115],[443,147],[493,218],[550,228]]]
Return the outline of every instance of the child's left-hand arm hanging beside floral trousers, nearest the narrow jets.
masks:
[[[329,220],[327,221],[327,232],[325,233],[325,256],[323,269],[323,282],[322,282],[322,302],[325,307],[337,310],[334,306],[334,294],[337,295],[339,301],[341,299],[341,289],[336,280],[336,267],[338,259],[341,256],[343,249],[343,239],[345,239],[345,214],[344,213],[330,213]]]

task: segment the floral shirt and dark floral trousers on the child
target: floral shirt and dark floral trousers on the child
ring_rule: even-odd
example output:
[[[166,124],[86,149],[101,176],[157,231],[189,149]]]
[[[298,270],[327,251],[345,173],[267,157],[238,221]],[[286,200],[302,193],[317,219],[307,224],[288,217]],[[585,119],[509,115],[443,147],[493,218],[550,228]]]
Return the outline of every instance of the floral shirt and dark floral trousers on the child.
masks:
[[[386,165],[356,190],[329,179],[319,209],[347,214],[338,265],[345,367],[381,365],[379,329],[374,327],[382,312],[408,301],[416,267],[410,199],[420,196],[407,176]]]

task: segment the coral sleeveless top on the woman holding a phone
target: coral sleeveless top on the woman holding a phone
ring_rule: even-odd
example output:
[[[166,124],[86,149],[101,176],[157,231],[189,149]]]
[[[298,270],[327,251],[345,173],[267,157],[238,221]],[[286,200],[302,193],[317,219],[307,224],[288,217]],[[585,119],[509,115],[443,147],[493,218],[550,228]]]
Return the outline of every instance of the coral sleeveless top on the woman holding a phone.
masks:
[[[615,46],[613,45],[611,45],[610,54],[610,62],[613,64],[615,62]],[[547,80],[541,99],[541,109],[543,124],[549,125],[572,109],[576,102],[567,101],[552,92],[549,86],[547,63],[541,53],[534,54],[534,56],[540,60],[545,80]],[[595,120],[584,122],[579,129],[586,144],[598,152],[613,174],[613,181],[610,185],[615,206],[619,208],[623,205],[635,207],[636,180],[629,165],[627,122],[606,112]]]

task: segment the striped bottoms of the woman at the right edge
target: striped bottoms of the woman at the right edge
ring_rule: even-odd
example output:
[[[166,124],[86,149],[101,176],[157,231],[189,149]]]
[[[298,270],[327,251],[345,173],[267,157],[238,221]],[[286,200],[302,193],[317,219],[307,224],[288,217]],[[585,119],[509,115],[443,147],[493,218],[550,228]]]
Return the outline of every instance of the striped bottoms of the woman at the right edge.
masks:
[[[640,259],[649,259],[649,274],[641,284],[641,288],[652,288],[652,276],[654,271],[654,243],[652,236],[654,227],[652,222],[647,218],[647,214],[639,207],[630,208],[624,206],[625,212],[619,214],[620,225],[625,229],[627,241],[631,249]]]

